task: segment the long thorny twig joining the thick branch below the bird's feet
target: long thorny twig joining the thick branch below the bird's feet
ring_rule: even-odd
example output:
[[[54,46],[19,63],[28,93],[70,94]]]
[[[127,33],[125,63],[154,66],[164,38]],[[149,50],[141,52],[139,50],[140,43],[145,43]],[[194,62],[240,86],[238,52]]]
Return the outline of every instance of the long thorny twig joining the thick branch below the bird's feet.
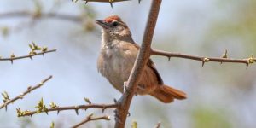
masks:
[[[36,113],[48,113],[48,112],[57,112],[57,113],[60,113],[61,111],[64,111],[64,110],[75,110],[75,112],[77,114],[79,114],[79,109],[88,109],[88,108],[99,108],[99,109],[102,109],[102,112],[105,110],[105,109],[108,109],[108,108],[117,108],[117,105],[116,104],[89,104],[89,105],[78,105],[78,106],[68,106],[68,107],[55,107],[55,108],[47,108],[46,111],[42,111],[42,112],[38,112],[38,111],[23,111],[25,113],[22,113],[19,115],[18,113],[18,116],[19,117],[24,117],[24,116],[32,116],[33,114],[36,114]]]

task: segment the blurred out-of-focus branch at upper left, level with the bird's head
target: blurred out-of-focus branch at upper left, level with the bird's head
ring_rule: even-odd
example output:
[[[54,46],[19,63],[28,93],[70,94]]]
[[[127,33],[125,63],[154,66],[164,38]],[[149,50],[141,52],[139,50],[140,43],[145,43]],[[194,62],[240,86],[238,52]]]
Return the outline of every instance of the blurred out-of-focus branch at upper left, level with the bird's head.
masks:
[[[64,14],[56,14],[55,12],[49,13],[41,13],[37,15],[34,12],[30,11],[15,11],[15,12],[7,12],[0,14],[0,19],[3,18],[15,18],[15,17],[32,17],[32,18],[54,18],[59,20],[70,20],[74,22],[81,22],[83,21],[83,17],[79,15],[64,15]]]

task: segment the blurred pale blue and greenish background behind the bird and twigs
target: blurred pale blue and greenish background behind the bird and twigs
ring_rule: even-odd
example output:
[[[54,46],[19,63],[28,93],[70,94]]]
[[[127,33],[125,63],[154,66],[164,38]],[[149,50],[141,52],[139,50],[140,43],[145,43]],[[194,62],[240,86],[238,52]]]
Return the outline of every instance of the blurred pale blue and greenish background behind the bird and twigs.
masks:
[[[67,0],[0,0],[0,55],[27,55],[32,41],[56,53],[30,59],[0,61],[0,92],[12,98],[27,86],[42,79],[54,78],[38,90],[25,96],[8,111],[0,110],[0,127],[69,127],[79,123],[89,113],[102,115],[100,110],[37,114],[17,118],[15,108],[35,110],[41,97],[45,104],[59,106],[84,104],[84,97],[94,103],[111,103],[121,94],[96,69],[101,44],[101,28],[94,20],[108,15],[120,15],[130,26],[133,38],[141,44],[151,1],[123,3],[73,3]],[[9,15],[19,12],[31,15]],[[45,17],[38,14],[68,15]],[[6,15],[7,14],[7,15]],[[230,58],[256,55],[256,1],[253,0],[183,0],[162,2],[154,32],[154,49],[189,55],[219,57],[228,50]],[[256,66],[243,64],[206,63],[166,57],[151,57],[166,84],[187,93],[188,99],[171,104],[161,103],[151,96],[135,96],[131,117],[138,127],[163,128],[253,128],[256,125]],[[91,122],[84,127],[113,127],[113,110],[105,113],[111,121]]]

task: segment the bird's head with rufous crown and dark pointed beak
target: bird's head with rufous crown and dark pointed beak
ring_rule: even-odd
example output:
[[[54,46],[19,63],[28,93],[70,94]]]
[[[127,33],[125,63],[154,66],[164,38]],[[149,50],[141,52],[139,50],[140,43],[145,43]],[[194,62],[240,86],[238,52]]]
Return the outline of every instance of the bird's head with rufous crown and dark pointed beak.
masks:
[[[96,24],[102,26],[103,34],[107,34],[109,38],[131,38],[130,29],[118,15],[109,16],[104,20],[96,20]]]

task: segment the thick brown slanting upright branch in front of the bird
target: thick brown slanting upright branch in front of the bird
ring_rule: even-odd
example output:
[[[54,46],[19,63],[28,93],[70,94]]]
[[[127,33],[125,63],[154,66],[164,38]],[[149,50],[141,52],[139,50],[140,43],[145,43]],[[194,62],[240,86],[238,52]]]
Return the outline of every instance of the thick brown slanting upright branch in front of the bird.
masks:
[[[137,59],[132,68],[130,77],[127,81],[128,88],[119,99],[116,109],[115,128],[124,128],[128,110],[130,108],[132,97],[137,89],[137,84],[142,76],[143,69],[146,66],[151,55],[151,42],[154,35],[154,27],[158,18],[161,0],[153,0],[148,15],[147,26],[143,36],[143,44],[137,55]]]

